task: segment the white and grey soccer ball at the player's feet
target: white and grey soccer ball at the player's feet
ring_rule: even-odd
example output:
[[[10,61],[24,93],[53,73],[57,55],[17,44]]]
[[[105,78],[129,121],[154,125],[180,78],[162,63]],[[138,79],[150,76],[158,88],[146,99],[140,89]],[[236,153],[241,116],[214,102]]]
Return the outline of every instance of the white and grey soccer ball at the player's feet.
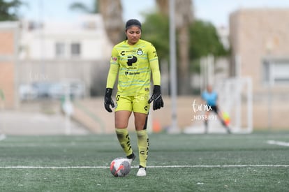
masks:
[[[110,172],[114,177],[124,177],[131,171],[131,163],[127,158],[118,157],[114,158],[110,163]]]

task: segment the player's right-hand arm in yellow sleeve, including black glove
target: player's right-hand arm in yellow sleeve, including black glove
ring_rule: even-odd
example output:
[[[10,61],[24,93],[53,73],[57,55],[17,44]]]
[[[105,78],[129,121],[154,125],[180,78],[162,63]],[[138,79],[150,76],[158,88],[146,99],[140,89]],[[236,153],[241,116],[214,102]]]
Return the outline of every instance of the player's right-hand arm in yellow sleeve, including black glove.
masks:
[[[151,98],[149,98],[149,103],[154,101],[153,109],[158,110],[163,108],[163,98],[161,97],[161,72],[158,66],[158,55],[153,45],[151,45],[151,49],[148,52],[148,57],[154,82],[154,91]]]

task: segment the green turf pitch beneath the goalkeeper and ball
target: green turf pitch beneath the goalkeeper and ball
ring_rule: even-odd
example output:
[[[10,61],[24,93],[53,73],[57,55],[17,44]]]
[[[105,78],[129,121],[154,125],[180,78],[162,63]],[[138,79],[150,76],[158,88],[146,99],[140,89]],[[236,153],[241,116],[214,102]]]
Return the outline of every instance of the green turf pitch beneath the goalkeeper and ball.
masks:
[[[131,134],[136,154],[135,133]],[[147,177],[113,177],[115,135],[0,141],[0,191],[289,191],[289,132],[150,134]]]

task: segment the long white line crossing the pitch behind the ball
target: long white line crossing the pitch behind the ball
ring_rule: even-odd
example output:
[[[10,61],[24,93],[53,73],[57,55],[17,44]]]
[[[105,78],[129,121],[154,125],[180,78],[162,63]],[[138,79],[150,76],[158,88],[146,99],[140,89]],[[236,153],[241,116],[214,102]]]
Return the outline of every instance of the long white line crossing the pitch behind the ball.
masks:
[[[109,166],[0,166],[0,169],[106,169]],[[138,168],[133,166],[132,168]],[[163,165],[147,168],[289,168],[289,165]]]

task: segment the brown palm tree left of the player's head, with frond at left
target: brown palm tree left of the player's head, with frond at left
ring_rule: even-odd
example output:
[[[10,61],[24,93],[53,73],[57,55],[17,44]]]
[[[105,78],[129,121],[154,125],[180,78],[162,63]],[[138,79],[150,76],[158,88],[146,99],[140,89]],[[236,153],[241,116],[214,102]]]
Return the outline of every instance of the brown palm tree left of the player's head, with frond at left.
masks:
[[[81,2],[75,2],[70,8],[84,13],[101,13],[108,38],[112,44],[119,42],[121,31],[124,29],[121,0],[94,0],[92,8],[88,8]]]

